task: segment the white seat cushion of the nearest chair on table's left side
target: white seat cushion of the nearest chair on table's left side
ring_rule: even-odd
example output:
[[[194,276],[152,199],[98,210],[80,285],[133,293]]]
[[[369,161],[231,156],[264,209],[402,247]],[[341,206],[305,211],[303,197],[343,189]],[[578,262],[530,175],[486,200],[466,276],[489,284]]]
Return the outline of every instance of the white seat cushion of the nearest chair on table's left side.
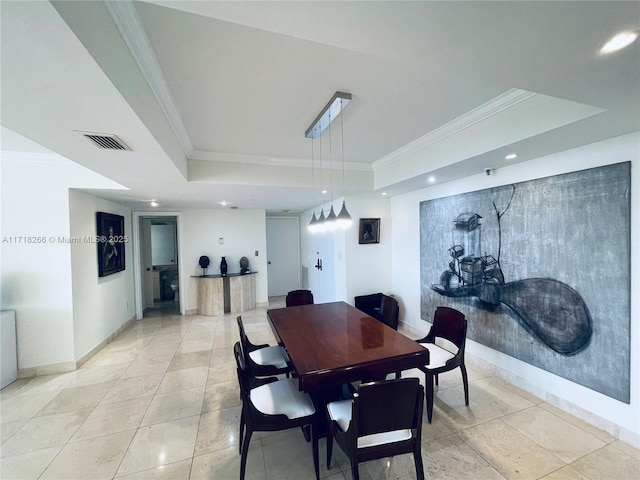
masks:
[[[249,392],[251,403],[265,415],[286,415],[290,420],[313,415],[311,397],[298,390],[298,381],[285,378],[267,383]]]

